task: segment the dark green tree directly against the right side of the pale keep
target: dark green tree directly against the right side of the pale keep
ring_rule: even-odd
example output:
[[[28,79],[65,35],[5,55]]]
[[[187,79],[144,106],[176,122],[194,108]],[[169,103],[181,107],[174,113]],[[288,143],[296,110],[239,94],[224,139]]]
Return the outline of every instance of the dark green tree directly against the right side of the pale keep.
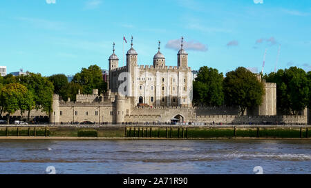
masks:
[[[200,67],[194,81],[194,103],[196,105],[220,106],[224,102],[223,73],[211,67]]]

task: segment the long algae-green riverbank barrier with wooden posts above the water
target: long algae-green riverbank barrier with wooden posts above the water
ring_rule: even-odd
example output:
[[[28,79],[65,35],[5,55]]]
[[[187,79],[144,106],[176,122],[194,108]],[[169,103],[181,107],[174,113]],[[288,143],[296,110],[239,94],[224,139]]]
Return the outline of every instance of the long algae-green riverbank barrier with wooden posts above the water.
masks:
[[[310,126],[0,126],[0,136],[100,138],[309,138]]]

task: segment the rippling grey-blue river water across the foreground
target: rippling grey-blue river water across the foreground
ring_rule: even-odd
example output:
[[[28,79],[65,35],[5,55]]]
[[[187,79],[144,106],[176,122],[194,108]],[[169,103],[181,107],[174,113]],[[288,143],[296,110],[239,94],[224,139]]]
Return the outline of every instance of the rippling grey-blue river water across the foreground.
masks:
[[[311,140],[0,140],[0,174],[311,174]],[[54,171],[55,169],[55,171]]]

